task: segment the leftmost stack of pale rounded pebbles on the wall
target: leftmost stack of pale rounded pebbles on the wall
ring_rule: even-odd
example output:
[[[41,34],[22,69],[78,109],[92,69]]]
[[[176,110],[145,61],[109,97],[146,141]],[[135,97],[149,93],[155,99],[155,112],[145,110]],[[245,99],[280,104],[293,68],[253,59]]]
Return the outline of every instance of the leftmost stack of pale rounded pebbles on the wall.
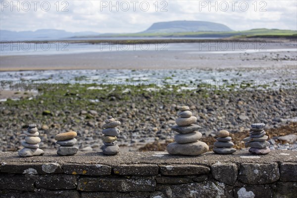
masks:
[[[22,142],[22,146],[25,147],[18,151],[19,156],[21,157],[30,157],[43,155],[45,152],[39,148],[38,143],[41,142],[41,139],[38,137],[39,132],[36,124],[30,124],[27,131],[24,132],[26,135],[25,141]]]

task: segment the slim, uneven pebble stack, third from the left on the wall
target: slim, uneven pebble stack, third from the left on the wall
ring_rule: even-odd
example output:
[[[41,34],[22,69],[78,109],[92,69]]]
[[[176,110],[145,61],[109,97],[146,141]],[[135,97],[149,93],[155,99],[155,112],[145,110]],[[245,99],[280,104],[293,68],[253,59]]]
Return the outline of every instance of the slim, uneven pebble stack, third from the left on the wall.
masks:
[[[104,128],[102,130],[102,141],[104,145],[101,147],[104,154],[114,155],[120,151],[116,141],[116,136],[120,133],[120,130],[116,127],[120,126],[120,124],[121,122],[116,121],[112,116],[107,117],[107,120],[105,120],[105,124],[102,126]]]

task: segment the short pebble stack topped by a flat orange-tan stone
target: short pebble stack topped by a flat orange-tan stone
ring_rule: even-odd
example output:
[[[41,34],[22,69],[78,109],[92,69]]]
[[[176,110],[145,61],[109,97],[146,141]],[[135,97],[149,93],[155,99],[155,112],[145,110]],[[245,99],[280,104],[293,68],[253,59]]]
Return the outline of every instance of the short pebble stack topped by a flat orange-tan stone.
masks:
[[[57,154],[61,156],[76,154],[78,147],[73,147],[77,142],[75,139],[76,136],[77,133],[74,131],[56,135],[54,139],[57,141],[56,144],[60,145],[57,150]]]

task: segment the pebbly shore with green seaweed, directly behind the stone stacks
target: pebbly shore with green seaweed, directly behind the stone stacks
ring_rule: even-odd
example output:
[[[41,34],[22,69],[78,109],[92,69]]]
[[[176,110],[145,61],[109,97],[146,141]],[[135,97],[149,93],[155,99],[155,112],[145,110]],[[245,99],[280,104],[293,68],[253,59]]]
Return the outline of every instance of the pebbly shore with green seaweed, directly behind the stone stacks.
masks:
[[[175,124],[179,105],[190,106],[202,127],[202,141],[210,148],[215,133],[222,129],[231,132],[236,147],[242,148],[241,140],[248,136],[249,125],[264,122],[275,148],[297,149],[296,89],[180,90],[180,86],[156,91],[139,86],[40,86],[34,98],[0,102],[0,150],[22,148],[23,131],[29,123],[37,123],[40,148],[45,151],[56,150],[54,136],[70,130],[77,132],[81,151],[100,151],[102,124],[109,115],[122,123],[118,136],[122,150],[137,150],[146,144],[142,150],[154,150],[149,143],[167,144],[176,134],[170,128]],[[293,136],[289,141],[278,141],[284,135]]]

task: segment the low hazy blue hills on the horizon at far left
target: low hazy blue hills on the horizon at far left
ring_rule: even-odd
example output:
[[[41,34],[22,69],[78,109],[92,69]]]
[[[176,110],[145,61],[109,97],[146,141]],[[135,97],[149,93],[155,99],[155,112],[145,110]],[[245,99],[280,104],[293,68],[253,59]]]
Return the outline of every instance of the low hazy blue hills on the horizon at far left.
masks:
[[[0,30],[1,41],[30,41],[30,40],[60,40],[69,37],[98,36],[96,32],[66,32],[64,30],[42,29],[36,31],[8,31]]]

